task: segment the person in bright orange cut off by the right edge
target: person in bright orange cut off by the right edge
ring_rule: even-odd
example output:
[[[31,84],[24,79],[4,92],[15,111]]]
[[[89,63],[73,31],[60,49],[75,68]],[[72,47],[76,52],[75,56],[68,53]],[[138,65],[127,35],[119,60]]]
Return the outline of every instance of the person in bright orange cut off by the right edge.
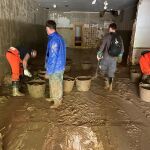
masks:
[[[150,51],[144,51],[141,53],[139,64],[143,73],[142,78],[146,79],[150,75]]]

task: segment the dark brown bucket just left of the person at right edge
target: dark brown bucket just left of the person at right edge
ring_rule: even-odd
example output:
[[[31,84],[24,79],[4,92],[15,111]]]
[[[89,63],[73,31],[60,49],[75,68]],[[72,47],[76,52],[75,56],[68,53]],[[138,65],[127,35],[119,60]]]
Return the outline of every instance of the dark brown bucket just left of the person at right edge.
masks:
[[[130,79],[133,83],[137,83],[141,78],[141,72],[138,70],[131,70],[130,71]]]

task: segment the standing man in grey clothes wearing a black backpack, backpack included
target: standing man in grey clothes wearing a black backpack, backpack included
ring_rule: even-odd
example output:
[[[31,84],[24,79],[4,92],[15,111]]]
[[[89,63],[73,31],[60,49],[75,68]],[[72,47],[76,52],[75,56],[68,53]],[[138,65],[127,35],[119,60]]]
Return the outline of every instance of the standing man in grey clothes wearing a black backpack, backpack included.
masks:
[[[117,59],[121,63],[124,52],[124,45],[121,36],[116,33],[117,25],[109,25],[109,33],[104,37],[103,43],[97,53],[100,67],[105,76],[105,89],[112,91],[113,78],[116,72]]]

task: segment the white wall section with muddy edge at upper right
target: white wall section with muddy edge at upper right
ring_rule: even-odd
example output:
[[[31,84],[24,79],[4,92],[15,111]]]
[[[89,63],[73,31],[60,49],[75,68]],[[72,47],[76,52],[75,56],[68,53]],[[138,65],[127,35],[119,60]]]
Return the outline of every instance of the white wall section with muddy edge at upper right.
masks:
[[[137,17],[133,26],[132,42],[130,50],[130,62],[132,65],[139,63],[141,52],[150,51],[150,16],[149,16],[149,0],[140,0],[137,7]]]

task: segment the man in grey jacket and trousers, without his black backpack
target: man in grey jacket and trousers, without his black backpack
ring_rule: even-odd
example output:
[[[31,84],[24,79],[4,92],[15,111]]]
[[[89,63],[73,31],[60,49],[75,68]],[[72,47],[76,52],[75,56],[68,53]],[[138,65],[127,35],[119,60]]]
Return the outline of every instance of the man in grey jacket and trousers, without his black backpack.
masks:
[[[116,34],[117,25],[115,23],[111,23],[109,25],[109,33],[105,35],[100,50],[97,53],[97,59],[101,61],[101,71],[105,76],[105,89],[109,89],[112,91],[113,78],[116,72],[117,59],[118,62],[121,63],[122,56],[124,53],[124,45],[123,40],[120,36],[121,40],[121,52],[117,57],[113,57],[109,54],[109,48],[112,41],[112,36]]]

